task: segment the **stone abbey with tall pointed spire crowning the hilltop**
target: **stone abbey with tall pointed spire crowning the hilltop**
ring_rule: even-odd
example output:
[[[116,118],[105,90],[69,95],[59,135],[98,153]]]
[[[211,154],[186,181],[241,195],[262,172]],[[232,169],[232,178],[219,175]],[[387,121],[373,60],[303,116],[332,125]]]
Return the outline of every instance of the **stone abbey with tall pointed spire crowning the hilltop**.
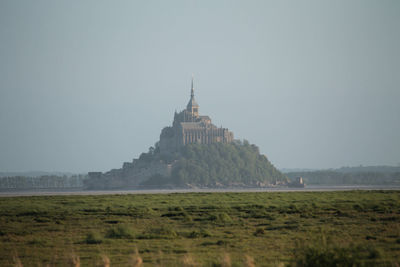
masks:
[[[178,151],[186,144],[230,143],[233,133],[226,128],[218,128],[209,116],[199,115],[199,105],[194,99],[193,77],[189,103],[186,109],[174,115],[172,127],[161,131],[159,148],[161,153]]]

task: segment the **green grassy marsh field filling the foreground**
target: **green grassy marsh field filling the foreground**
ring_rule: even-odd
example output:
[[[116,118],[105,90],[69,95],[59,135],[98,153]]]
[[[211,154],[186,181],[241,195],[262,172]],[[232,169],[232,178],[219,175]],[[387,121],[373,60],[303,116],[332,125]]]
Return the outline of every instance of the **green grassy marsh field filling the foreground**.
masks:
[[[398,266],[400,192],[0,198],[0,266],[135,266],[135,261]]]

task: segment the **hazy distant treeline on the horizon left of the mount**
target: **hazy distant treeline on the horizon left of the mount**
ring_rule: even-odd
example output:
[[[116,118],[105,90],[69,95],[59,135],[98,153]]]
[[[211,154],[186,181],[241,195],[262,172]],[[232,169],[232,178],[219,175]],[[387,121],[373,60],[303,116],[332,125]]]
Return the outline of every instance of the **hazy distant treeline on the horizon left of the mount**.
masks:
[[[0,177],[0,190],[13,189],[62,189],[82,188],[86,175],[56,176],[43,175],[39,177],[14,176]]]

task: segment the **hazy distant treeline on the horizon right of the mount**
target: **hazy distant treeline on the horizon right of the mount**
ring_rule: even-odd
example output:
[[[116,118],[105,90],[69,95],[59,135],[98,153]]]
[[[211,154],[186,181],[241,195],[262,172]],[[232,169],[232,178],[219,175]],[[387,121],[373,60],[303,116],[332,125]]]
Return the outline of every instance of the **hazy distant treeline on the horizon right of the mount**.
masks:
[[[286,175],[290,179],[303,177],[306,184],[315,185],[400,185],[400,172],[372,172],[338,170],[322,170],[307,172],[289,172]]]

